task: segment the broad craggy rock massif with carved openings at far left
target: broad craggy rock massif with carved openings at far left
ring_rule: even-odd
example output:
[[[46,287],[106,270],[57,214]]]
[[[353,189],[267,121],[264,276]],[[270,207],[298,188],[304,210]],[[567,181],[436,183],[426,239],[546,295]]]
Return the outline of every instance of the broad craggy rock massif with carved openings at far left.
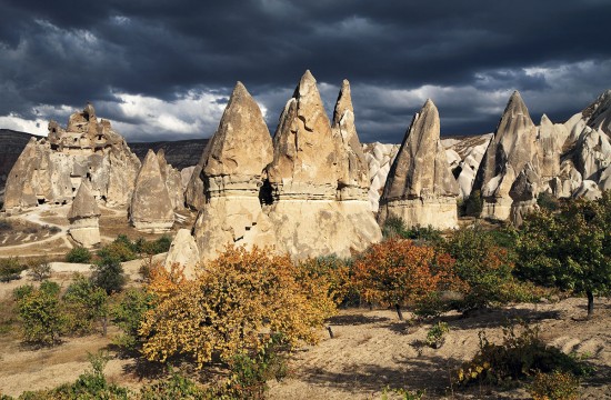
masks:
[[[139,169],[123,138],[88,104],[66,130],[50,121],[48,138],[30,140],[7,179],[4,209],[70,202],[83,180],[108,206],[126,206]]]

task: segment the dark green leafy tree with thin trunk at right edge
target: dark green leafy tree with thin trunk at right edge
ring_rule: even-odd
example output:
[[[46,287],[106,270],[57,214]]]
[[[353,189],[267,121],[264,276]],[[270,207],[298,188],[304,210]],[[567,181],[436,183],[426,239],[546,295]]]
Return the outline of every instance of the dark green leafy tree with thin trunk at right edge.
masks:
[[[544,286],[588,297],[611,291],[611,191],[598,200],[578,199],[560,212],[527,217],[517,242],[517,273]]]

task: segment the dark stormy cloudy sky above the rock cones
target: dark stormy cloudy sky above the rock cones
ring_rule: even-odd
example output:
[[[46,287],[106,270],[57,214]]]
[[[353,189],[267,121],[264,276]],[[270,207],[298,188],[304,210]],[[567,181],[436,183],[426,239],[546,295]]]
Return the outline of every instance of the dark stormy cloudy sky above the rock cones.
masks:
[[[130,141],[208,138],[236,81],[271,133],[310,69],[352,87],[362,142],[400,142],[431,98],[441,132],[494,130],[520,90],[563,122],[611,88],[611,1],[0,0],[0,128],[46,133],[87,101]]]

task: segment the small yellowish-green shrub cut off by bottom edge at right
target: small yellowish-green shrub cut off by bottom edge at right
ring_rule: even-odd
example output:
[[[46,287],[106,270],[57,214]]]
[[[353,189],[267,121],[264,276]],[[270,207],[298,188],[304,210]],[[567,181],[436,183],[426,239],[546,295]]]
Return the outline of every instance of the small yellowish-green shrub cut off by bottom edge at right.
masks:
[[[537,372],[529,393],[533,400],[578,400],[579,378],[569,372]]]

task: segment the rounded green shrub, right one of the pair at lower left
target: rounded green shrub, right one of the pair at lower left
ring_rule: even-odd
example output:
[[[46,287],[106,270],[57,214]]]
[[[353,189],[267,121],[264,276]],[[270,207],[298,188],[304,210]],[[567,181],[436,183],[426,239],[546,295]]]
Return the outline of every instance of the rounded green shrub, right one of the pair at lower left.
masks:
[[[82,274],[77,274],[63,294],[69,331],[77,334],[93,331],[96,321],[102,322],[102,334],[106,336],[108,318],[108,294]]]

